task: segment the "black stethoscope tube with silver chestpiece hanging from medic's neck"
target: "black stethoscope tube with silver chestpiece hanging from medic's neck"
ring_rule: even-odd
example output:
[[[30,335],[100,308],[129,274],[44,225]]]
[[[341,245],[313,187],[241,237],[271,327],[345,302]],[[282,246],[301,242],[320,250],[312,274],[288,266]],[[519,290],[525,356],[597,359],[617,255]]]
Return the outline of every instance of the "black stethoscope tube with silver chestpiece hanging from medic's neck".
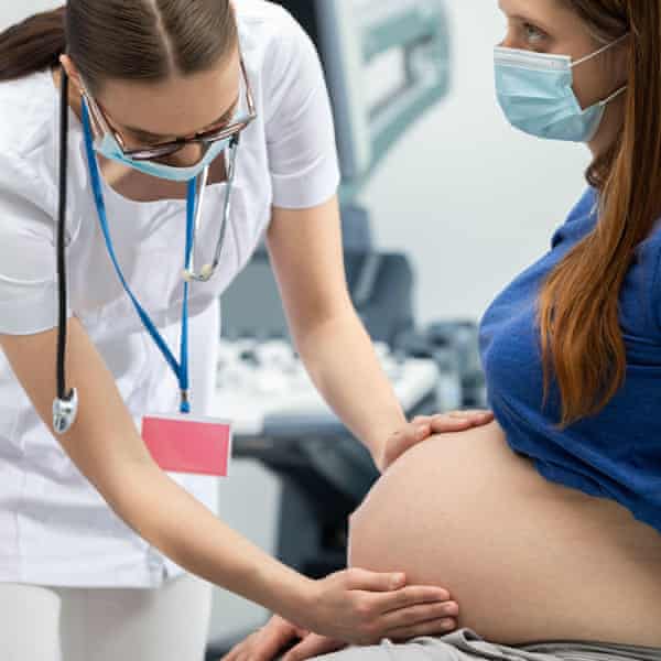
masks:
[[[53,429],[57,434],[66,433],[76,420],[78,393],[67,392],[65,375],[67,292],[66,292],[66,204],[67,204],[67,156],[68,156],[68,76],[62,67],[61,116],[59,116],[59,208],[57,219],[57,288],[59,318],[57,326],[57,398],[53,401]]]

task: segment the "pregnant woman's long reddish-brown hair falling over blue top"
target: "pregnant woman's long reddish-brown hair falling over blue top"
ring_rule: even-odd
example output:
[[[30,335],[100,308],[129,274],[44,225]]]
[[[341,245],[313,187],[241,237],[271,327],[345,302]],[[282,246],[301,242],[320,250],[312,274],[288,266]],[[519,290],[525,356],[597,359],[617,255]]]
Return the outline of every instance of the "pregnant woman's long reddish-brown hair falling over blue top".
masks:
[[[602,411],[625,382],[619,295],[661,212],[661,0],[562,1],[604,42],[630,34],[624,126],[587,172],[598,223],[551,273],[539,302],[544,392],[553,371],[566,427]]]

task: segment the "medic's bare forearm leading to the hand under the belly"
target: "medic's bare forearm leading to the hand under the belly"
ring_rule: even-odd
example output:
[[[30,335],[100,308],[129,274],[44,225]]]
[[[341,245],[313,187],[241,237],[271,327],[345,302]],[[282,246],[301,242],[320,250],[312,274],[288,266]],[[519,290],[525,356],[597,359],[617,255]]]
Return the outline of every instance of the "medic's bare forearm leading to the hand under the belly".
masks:
[[[310,579],[232,531],[158,466],[123,466],[117,481],[104,489],[109,505],[178,565],[293,621],[304,610]]]

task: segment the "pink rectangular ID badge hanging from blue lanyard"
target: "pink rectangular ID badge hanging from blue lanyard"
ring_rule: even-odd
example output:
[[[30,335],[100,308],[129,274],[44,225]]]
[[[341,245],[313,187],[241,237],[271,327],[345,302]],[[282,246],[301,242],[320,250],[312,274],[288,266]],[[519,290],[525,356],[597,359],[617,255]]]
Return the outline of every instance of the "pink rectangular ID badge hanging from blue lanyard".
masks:
[[[145,415],[142,440],[166,472],[227,477],[231,424],[193,415]]]

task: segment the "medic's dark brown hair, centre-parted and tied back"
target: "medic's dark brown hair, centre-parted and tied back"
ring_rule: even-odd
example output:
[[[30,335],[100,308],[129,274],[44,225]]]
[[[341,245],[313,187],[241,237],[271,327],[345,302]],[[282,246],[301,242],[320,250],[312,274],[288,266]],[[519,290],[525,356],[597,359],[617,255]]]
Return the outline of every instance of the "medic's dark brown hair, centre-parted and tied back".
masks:
[[[0,34],[0,80],[67,53],[93,91],[110,78],[158,82],[212,68],[237,39],[229,0],[69,0]]]

